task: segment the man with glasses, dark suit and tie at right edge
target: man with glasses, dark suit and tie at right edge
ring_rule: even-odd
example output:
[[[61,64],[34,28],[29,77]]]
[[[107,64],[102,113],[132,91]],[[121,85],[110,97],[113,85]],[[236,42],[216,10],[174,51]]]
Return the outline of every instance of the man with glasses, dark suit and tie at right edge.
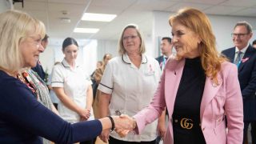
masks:
[[[252,37],[252,28],[248,22],[238,22],[234,26],[232,34],[234,47],[223,50],[230,62],[238,66],[238,79],[242,91],[244,110],[244,138],[247,141],[248,126],[256,122],[256,50],[249,44]],[[252,138],[255,143],[256,135],[252,130]]]

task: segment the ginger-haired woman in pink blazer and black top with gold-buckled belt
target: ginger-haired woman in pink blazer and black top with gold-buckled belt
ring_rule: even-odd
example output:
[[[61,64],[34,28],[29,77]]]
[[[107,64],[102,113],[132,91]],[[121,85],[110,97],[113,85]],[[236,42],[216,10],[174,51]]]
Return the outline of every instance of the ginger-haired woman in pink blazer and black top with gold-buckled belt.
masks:
[[[237,67],[218,54],[209,19],[186,8],[169,22],[177,55],[167,60],[150,106],[130,118],[135,132],[140,134],[166,106],[170,118],[165,144],[242,144]]]

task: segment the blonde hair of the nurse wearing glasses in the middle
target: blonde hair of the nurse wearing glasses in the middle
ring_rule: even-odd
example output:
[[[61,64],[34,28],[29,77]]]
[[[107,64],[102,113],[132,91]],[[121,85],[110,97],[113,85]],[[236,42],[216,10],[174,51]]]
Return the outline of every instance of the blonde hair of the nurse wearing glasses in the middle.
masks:
[[[129,24],[127,25],[123,30],[122,30],[122,34],[121,37],[119,38],[119,42],[118,42],[118,54],[122,55],[122,54],[126,54],[126,49],[123,46],[122,43],[122,38],[123,38],[123,34],[126,31],[126,29],[128,28],[132,28],[135,29],[137,31],[138,34],[138,38],[141,39],[141,46],[139,47],[139,53],[140,54],[144,54],[146,52],[146,48],[145,48],[145,43],[144,43],[144,38],[142,38],[142,34],[140,32],[140,30],[138,29],[138,26],[134,25],[134,24]]]

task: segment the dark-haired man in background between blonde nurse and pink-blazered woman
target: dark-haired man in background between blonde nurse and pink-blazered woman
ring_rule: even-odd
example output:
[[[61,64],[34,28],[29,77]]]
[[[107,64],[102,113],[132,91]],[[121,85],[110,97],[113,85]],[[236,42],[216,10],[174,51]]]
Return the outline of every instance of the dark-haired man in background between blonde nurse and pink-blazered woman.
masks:
[[[163,70],[164,66],[166,65],[166,60],[170,57],[172,50],[173,44],[171,43],[171,38],[163,37],[161,42],[162,55],[158,58],[155,58],[159,62],[161,70]]]

